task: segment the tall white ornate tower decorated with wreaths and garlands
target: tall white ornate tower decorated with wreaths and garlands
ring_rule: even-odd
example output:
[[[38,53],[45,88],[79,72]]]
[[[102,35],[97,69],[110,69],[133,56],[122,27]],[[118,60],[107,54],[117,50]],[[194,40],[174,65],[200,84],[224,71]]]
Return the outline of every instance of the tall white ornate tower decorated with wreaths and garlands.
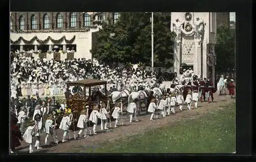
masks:
[[[172,12],[171,31],[176,33],[174,71],[182,64],[199,77],[212,78],[215,84],[216,12]]]

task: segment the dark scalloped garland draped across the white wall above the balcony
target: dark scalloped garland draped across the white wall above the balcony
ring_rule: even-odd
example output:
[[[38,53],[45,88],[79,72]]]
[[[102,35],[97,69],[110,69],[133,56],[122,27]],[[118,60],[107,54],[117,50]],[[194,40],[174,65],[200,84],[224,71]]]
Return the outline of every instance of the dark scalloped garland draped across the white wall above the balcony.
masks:
[[[37,38],[37,36],[34,36],[34,37],[33,37],[32,39],[30,39],[30,40],[26,40],[26,39],[24,39],[23,37],[19,37],[19,38],[18,38],[17,40],[15,40],[15,41],[12,41],[12,40],[10,39],[10,42],[11,42],[12,44],[16,44],[16,43],[18,43],[20,40],[23,40],[24,43],[31,44],[31,43],[33,43],[33,42],[36,40],[37,42],[44,44],[44,43],[48,42],[49,40],[51,40],[53,43],[60,43],[60,42],[62,42],[63,40],[65,40],[67,43],[72,43],[72,42],[75,40],[75,38],[76,38],[76,36],[73,36],[72,39],[68,40],[68,39],[66,39],[66,36],[62,36],[60,39],[54,40],[52,37],[48,36],[45,40],[40,40],[40,39]]]

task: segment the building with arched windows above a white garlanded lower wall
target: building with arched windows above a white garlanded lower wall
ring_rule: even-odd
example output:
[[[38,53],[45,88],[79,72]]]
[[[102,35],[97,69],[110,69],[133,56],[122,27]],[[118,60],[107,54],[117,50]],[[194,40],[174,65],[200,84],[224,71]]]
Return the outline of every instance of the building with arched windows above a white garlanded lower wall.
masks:
[[[11,50],[33,49],[33,57],[47,60],[92,59],[93,33],[102,21],[114,23],[118,17],[117,12],[11,12]]]

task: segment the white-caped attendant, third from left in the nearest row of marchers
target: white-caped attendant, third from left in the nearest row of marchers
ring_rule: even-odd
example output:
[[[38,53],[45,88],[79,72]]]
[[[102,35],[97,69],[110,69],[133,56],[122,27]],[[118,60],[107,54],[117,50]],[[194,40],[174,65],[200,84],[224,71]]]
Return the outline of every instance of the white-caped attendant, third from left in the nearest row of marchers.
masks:
[[[45,123],[45,130],[46,130],[46,139],[45,139],[45,145],[48,145],[48,138],[49,135],[51,135],[53,137],[53,141],[56,144],[57,143],[57,139],[56,137],[53,135],[53,129],[55,128],[57,124],[54,123],[54,118],[53,115],[49,115],[46,119],[46,123]]]

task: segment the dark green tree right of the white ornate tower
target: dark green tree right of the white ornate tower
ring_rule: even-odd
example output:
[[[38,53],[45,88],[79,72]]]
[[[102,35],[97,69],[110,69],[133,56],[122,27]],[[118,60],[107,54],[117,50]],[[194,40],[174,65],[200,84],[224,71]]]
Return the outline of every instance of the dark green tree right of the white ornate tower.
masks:
[[[217,44],[215,47],[218,71],[229,71],[235,68],[235,30],[226,26],[217,29]]]

